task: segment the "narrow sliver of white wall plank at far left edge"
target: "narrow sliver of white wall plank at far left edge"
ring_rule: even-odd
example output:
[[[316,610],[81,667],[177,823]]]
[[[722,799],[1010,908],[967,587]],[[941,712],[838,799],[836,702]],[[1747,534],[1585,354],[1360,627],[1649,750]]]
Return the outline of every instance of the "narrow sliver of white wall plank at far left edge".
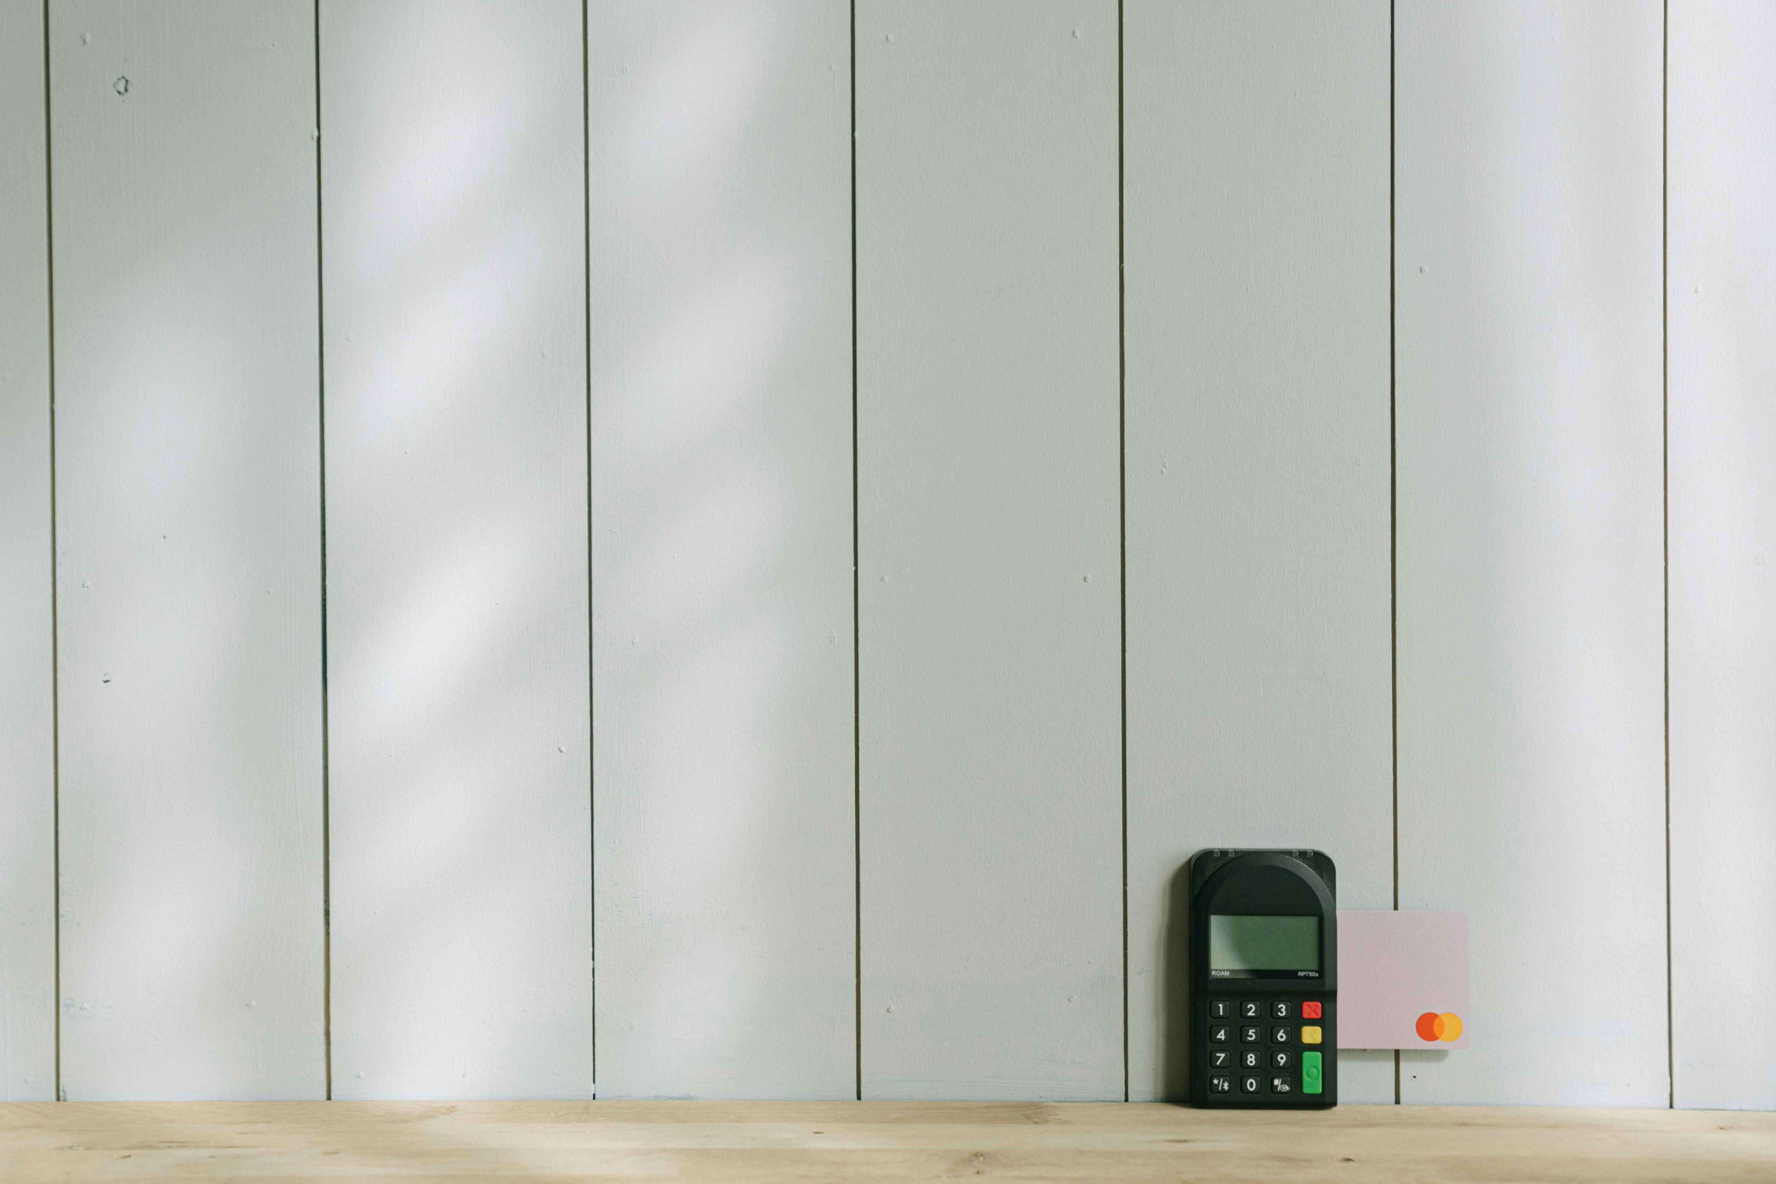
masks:
[[[0,1101],[55,1097],[43,5],[0,0]]]

